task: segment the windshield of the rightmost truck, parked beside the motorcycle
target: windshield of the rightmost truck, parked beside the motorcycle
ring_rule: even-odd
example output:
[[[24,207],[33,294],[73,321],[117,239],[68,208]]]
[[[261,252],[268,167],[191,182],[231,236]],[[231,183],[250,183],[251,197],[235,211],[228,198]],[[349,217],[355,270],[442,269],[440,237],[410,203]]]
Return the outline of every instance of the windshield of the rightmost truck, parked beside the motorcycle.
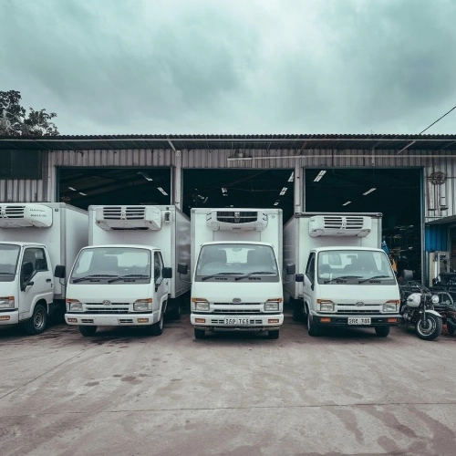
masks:
[[[320,252],[317,260],[320,284],[396,283],[389,258],[384,252],[370,250],[331,250]]]

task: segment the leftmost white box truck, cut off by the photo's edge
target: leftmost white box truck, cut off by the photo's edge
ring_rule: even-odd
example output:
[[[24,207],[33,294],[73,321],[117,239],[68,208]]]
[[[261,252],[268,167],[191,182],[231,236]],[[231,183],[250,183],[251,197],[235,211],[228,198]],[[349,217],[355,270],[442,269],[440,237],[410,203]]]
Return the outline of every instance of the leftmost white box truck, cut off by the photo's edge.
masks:
[[[88,244],[88,212],[63,202],[0,203],[0,325],[42,333],[65,313],[65,276]]]

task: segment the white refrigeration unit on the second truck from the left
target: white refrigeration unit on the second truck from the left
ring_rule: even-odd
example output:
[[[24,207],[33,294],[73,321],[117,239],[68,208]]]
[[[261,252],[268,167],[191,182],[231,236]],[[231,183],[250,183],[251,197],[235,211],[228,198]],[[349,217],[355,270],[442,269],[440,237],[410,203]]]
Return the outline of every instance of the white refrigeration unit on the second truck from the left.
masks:
[[[162,223],[171,223],[171,212],[162,216],[155,206],[97,206],[95,222],[103,230],[161,230]]]

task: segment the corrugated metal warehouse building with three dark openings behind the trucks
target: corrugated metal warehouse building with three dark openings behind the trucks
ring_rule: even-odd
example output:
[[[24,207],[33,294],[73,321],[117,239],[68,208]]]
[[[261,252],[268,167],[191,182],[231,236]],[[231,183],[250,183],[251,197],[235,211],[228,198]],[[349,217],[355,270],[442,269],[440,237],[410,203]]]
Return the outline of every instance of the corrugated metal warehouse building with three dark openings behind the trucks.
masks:
[[[456,135],[3,137],[0,202],[381,212],[429,284],[456,270],[455,158]]]

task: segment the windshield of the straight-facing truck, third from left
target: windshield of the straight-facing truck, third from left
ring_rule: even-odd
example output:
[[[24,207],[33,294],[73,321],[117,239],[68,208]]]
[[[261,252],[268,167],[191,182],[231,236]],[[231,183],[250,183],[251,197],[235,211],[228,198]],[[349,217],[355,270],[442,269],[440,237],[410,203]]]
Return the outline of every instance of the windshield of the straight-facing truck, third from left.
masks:
[[[203,245],[196,264],[196,281],[231,281],[240,278],[277,282],[275,253],[269,245]]]

